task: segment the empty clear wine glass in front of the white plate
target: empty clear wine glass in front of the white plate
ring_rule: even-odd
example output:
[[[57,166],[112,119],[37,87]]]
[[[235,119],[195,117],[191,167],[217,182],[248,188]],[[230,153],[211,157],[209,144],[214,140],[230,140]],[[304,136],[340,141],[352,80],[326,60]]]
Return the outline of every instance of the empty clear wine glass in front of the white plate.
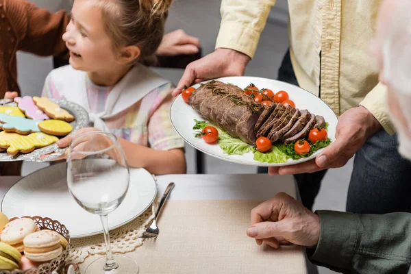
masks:
[[[106,256],[92,262],[90,273],[138,273],[138,264],[127,256],[113,256],[108,214],[119,207],[129,187],[129,169],[116,136],[88,132],[71,141],[67,156],[67,184],[75,201],[103,224]]]

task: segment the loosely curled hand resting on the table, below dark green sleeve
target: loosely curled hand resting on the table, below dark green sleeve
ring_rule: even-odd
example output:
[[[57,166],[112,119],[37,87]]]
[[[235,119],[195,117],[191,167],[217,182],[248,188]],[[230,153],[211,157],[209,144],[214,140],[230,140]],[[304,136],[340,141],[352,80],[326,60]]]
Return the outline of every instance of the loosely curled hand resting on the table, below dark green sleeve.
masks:
[[[279,239],[295,245],[314,247],[320,237],[319,216],[312,213],[294,198],[280,192],[251,210],[251,227],[247,235],[275,249]]]

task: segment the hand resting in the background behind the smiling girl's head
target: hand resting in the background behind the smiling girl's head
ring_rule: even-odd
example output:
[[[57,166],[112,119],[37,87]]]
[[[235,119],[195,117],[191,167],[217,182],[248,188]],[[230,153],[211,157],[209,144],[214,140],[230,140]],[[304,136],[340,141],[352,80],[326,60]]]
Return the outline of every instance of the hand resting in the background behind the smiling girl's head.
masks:
[[[157,55],[175,56],[179,54],[195,54],[201,47],[199,39],[189,36],[182,29],[175,30],[165,34],[160,47],[157,49]]]

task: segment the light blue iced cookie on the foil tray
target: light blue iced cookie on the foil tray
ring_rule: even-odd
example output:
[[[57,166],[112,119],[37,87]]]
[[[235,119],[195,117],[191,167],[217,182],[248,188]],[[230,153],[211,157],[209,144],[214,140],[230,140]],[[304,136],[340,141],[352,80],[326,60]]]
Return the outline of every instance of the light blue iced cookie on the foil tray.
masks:
[[[38,128],[38,120],[27,119],[20,116],[8,116],[0,113],[0,127],[5,132],[16,132],[18,134],[30,134],[32,132],[40,132]]]

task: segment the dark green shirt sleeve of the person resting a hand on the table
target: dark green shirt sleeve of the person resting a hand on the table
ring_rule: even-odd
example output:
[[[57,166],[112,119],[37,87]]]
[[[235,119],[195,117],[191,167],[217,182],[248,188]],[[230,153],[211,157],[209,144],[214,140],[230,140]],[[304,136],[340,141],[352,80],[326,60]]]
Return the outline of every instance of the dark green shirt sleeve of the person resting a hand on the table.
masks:
[[[314,263],[342,273],[408,273],[411,214],[351,214],[319,210],[321,234]]]

